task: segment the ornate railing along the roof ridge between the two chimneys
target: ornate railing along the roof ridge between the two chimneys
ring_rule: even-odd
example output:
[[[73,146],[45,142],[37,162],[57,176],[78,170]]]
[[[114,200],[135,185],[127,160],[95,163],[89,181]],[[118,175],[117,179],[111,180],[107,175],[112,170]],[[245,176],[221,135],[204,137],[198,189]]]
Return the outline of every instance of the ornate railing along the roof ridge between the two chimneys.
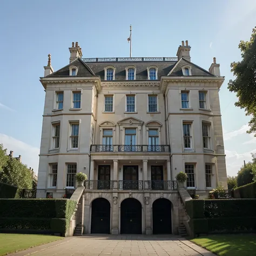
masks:
[[[133,57],[133,58],[82,58],[83,62],[170,62],[177,57]]]

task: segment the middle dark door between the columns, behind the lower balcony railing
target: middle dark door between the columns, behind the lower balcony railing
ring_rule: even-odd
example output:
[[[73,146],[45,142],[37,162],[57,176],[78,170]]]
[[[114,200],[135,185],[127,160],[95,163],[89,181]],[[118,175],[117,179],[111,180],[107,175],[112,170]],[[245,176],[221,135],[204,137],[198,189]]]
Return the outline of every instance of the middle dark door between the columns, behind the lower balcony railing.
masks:
[[[125,165],[123,167],[123,190],[138,190],[138,165]]]

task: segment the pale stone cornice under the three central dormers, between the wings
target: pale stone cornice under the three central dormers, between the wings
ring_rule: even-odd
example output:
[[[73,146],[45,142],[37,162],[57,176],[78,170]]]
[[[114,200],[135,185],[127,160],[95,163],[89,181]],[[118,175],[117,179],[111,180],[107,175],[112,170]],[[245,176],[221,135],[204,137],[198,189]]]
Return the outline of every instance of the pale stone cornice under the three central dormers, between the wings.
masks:
[[[111,82],[102,82],[102,87],[159,87],[160,81],[111,81]]]

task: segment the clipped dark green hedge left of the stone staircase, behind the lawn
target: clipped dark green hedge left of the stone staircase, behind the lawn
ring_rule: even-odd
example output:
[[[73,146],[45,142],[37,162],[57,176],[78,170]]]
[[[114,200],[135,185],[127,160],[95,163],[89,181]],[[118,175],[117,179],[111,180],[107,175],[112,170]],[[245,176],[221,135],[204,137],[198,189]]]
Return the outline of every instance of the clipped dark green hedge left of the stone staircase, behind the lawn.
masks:
[[[69,199],[0,199],[0,232],[65,236],[76,205]]]

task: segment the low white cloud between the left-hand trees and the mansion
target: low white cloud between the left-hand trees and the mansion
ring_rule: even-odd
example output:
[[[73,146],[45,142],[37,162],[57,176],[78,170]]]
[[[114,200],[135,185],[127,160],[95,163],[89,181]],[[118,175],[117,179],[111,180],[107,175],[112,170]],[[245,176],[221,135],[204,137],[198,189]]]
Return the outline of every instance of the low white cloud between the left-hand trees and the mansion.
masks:
[[[38,154],[40,150],[37,147],[33,147],[3,133],[0,133],[0,144],[3,144],[8,154],[11,150],[14,151],[15,157],[18,157],[20,154],[22,156],[22,163],[34,169],[35,173],[38,172]]]

